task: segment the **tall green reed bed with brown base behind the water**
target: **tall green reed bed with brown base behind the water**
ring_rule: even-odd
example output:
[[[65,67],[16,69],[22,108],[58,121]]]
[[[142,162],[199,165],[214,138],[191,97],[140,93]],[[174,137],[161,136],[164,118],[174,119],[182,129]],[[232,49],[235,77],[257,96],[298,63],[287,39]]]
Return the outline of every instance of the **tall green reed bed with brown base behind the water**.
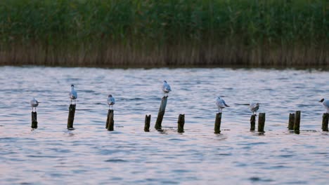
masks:
[[[0,64],[329,64],[328,0],[2,0]]]

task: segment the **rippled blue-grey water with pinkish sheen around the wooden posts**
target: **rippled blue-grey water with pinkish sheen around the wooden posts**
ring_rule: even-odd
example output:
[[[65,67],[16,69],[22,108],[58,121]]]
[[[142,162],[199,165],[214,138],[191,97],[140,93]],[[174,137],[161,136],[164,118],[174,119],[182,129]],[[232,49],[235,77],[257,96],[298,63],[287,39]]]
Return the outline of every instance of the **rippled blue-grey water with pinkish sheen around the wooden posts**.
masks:
[[[328,132],[321,131],[329,72],[276,69],[96,69],[0,67],[1,184],[327,184]],[[172,86],[154,130],[163,80]],[[70,84],[78,92],[67,130]],[[108,94],[115,131],[105,130]],[[214,134],[215,98],[224,109]],[[37,130],[31,130],[35,97]],[[266,112],[250,132],[250,101]],[[302,111],[299,135],[287,130]],[[152,114],[151,132],[143,132]],[[176,132],[186,114],[185,132]]]

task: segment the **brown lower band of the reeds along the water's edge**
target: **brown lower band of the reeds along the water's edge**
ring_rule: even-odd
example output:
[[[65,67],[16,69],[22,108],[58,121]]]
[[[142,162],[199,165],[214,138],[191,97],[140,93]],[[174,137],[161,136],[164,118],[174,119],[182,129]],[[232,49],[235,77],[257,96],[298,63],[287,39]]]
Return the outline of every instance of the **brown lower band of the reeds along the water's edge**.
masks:
[[[86,49],[89,48],[89,49]],[[329,49],[323,46],[243,46],[238,44],[180,45],[154,48],[67,45],[18,45],[0,48],[0,65],[67,67],[328,67]]]

